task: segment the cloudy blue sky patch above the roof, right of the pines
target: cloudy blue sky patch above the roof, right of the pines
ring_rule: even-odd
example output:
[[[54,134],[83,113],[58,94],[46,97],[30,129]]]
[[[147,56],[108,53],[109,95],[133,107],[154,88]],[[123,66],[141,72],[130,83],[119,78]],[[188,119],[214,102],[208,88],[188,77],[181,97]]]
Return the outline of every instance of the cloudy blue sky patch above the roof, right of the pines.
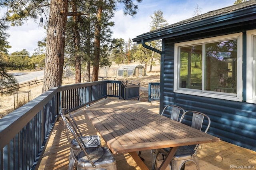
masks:
[[[231,6],[232,0],[143,0],[139,5],[138,14],[134,18],[132,16],[124,16],[122,9],[118,10],[112,19],[115,22],[113,30],[114,38],[136,38],[140,34],[150,31],[150,15],[153,16],[156,10],[162,10],[164,19],[168,24],[174,24],[194,16],[196,4],[201,9],[202,14]]]

